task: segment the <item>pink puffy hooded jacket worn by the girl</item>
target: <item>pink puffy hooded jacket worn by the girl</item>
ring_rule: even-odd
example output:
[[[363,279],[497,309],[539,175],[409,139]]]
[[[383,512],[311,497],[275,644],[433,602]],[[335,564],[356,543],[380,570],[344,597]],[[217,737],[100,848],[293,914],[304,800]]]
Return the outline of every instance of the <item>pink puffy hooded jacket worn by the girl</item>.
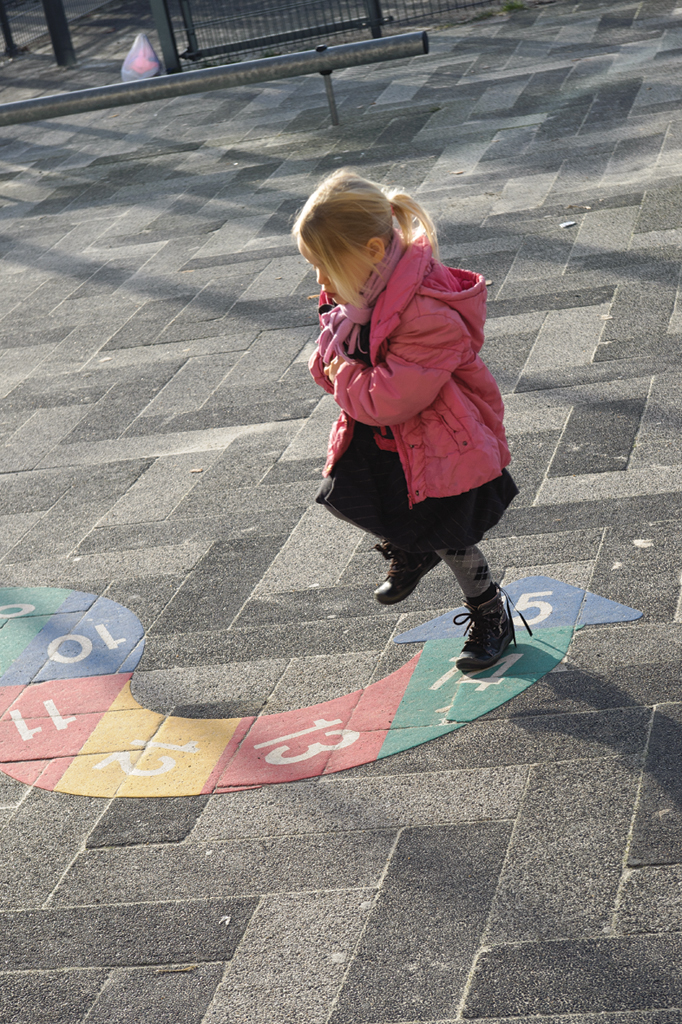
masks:
[[[500,389],[478,355],[485,296],[479,273],[438,263],[422,237],[406,250],[377,299],[372,366],[345,362],[332,386],[315,349],[310,373],[342,410],[329,440],[326,476],[350,444],[355,420],[390,426],[411,506],[500,476],[511,456]],[[329,301],[326,293],[322,301]]]

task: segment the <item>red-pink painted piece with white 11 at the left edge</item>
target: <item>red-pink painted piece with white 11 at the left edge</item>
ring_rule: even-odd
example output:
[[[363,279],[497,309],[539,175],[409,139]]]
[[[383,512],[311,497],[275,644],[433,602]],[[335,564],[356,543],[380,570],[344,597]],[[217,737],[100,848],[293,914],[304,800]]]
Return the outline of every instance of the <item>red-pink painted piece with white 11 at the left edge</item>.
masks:
[[[78,754],[131,675],[59,679],[27,686],[0,720],[3,761],[20,763]]]

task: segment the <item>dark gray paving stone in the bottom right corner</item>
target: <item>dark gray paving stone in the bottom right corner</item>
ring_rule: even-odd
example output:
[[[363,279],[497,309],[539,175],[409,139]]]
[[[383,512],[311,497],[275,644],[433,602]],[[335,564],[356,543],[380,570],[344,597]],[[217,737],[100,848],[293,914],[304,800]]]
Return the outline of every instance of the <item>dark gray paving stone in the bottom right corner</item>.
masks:
[[[681,937],[562,940],[484,952],[463,1016],[677,1009]]]

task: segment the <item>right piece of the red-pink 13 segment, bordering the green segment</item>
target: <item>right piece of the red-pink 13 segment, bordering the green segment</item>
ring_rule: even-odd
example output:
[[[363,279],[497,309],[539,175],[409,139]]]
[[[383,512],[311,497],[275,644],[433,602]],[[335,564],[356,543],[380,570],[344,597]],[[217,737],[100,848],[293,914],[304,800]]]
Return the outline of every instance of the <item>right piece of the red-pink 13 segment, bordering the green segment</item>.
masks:
[[[330,775],[377,760],[420,654],[421,651],[401,669],[361,691],[346,727],[359,736],[348,746],[332,753],[323,774]]]

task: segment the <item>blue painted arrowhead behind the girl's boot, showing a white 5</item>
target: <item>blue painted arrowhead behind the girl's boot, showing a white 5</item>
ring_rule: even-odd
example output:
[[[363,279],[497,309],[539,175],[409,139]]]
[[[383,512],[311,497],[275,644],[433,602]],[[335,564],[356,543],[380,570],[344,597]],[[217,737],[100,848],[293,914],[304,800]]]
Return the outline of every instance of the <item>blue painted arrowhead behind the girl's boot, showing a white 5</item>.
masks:
[[[608,601],[572,587],[570,584],[552,580],[551,577],[526,577],[505,587],[517,610],[523,613],[535,633],[538,630],[562,629],[578,624],[582,626],[597,623],[624,623],[641,618],[642,612],[625,604]],[[582,609],[582,610],[581,610]],[[453,617],[465,608],[456,608],[444,615],[438,615],[423,626],[417,626],[395,637],[394,643],[419,643],[431,640],[454,640],[464,635],[464,626],[455,626]],[[514,615],[517,631],[523,632],[518,614]]]

